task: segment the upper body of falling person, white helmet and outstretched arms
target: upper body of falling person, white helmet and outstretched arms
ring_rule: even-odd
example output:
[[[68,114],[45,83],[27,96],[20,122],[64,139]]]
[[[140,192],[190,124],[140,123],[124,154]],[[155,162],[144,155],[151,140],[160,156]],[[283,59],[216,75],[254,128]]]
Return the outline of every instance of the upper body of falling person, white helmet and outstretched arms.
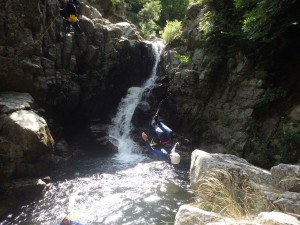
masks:
[[[146,147],[148,148],[149,151],[151,151],[154,155],[158,156],[159,158],[163,160],[167,160],[172,163],[172,164],[179,164],[180,163],[180,155],[176,152],[176,147],[179,145],[179,142],[176,142],[175,145],[173,146],[170,154],[164,149],[157,149],[154,148],[148,139],[148,135],[145,132],[142,132],[142,138],[145,141]]]

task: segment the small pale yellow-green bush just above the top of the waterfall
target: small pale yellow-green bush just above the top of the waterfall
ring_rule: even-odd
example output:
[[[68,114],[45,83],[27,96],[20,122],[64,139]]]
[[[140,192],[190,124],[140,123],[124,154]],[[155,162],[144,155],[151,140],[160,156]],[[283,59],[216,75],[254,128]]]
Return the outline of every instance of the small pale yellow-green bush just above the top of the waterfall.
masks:
[[[161,36],[166,43],[170,43],[176,38],[179,38],[182,34],[181,21],[167,21],[164,30],[161,32]]]

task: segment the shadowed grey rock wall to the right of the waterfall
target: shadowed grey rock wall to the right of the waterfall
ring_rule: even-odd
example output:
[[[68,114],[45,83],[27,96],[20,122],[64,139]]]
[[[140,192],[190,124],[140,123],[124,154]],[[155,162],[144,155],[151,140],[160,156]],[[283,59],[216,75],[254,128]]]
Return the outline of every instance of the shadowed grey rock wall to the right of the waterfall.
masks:
[[[283,37],[287,45],[273,52],[276,57],[264,56],[264,64],[237,45],[222,58],[216,46],[207,50],[201,39],[199,22],[206,12],[201,3],[190,5],[183,21],[186,41],[166,48],[160,67],[161,77],[169,80],[163,117],[207,151],[215,151],[218,145],[218,152],[232,152],[265,168],[278,161],[297,163],[299,95],[294,87],[299,87],[299,77],[295,77],[299,67],[293,65],[299,58],[279,58],[299,45]],[[270,71],[284,76],[286,82],[274,82]],[[281,75],[280,71],[289,73]]]

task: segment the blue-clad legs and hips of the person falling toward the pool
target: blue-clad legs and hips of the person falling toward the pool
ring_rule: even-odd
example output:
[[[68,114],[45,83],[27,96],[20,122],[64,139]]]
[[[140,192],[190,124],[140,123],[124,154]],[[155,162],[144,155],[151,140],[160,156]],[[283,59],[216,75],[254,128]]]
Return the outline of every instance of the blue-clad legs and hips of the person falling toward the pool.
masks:
[[[170,143],[173,131],[159,120],[158,113],[154,115],[151,125],[153,126],[154,131],[157,134],[157,138],[153,138],[151,140],[151,146],[156,146],[157,148],[159,148]]]

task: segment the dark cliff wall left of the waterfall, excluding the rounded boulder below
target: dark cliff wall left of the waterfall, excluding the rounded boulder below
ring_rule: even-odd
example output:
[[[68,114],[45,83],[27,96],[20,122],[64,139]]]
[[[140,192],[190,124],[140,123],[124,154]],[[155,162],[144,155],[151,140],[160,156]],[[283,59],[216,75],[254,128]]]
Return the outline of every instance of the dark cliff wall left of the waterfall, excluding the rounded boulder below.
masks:
[[[0,91],[28,92],[60,118],[110,113],[149,76],[151,45],[87,1],[79,7],[84,34],[66,33],[58,9],[57,1],[1,2]]]

